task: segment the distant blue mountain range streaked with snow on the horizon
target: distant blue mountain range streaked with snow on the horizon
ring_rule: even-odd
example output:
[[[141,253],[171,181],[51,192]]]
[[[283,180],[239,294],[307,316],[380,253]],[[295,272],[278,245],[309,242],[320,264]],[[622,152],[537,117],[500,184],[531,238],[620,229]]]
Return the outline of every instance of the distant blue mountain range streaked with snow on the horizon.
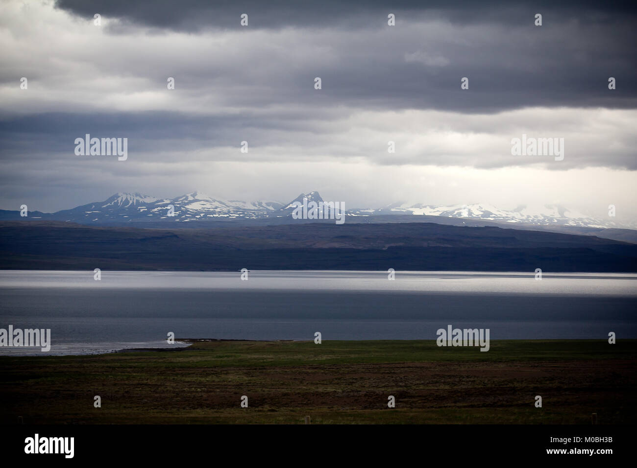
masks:
[[[292,211],[303,199],[321,202],[318,192],[299,194],[287,204],[277,201],[239,201],[211,197],[202,192],[190,192],[172,199],[160,199],[139,193],[118,193],[101,202],[92,202],[56,213],[29,211],[29,216],[20,216],[20,211],[0,210],[0,220],[56,220],[84,224],[122,224],[129,222],[176,222],[193,223],[204,220],[273,220],[277,223],[292,221]],[[348,209],[346,215],[352,222],[354,216],[361,218],[380,215],[403,215],[401,222],[418,222],[417,216],[440,216],[443,218],[461,218],[478,222],[481,220],[505,225],[541,226],[541,227],[585,227],[636,229],[634,225],[618,225],[610,216],[585,216],[562,206],[519,206],[506,210],[489,204],[468,204],[453,206],[435,206],[422,203],[394,203],[383,208]],[[409,216],[405,218],[404,216]],[[425,218],[427,222],[436,222]],[[379,219],[379,222],[380,219]],[[385,222],[385,221],[382,221]],[[197,223],[199,225],[199,223]]]

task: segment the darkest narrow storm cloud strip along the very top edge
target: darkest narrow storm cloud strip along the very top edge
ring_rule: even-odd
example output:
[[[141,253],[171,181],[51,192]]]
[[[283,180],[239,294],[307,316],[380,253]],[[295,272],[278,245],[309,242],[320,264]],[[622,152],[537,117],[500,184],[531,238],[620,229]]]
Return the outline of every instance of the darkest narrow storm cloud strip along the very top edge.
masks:
[[[504,22],[524,25],[529,13],[555,13],[561,20],[582,18],[606,22],[608,15],[634,15],[637,7],[627,1],[537,0],[521,1],[448,1],[448,0],[366,0],[366,1],[297,1],[297,0],[58,0],[57,7],[84,18],[95,13],[121,18],[127,22],[178,31],[205,27],[233,29],[238,18],[247,13],[250,27],[280,28],[326,25],[368,27],[386,24],[388,13],[402,13],[399,21],[429,17],[446,17],[459,23]],[[550,22],[550,20],[549,20]]]

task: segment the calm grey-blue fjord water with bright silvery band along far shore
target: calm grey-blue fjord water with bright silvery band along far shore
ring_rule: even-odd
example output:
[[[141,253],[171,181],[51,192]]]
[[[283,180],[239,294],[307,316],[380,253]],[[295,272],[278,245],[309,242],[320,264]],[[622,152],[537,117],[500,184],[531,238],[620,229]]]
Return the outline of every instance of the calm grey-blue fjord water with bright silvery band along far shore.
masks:
[[[490,339],[637,337],[637,274],[372,271],[0,271],[0,328],[51,329],[48,353],[184,346],[177,338]]]

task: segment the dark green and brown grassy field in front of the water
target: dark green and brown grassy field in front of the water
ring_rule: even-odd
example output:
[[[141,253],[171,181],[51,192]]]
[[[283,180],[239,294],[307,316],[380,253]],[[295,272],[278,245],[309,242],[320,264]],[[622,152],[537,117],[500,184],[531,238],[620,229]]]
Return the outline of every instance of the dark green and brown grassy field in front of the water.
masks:
[[[634,423],[636,364],[637,340],[603,339],[492,341],[488,352],[434,341],[215,341],[0,357],[0,423],[573,424],[591,413]]]

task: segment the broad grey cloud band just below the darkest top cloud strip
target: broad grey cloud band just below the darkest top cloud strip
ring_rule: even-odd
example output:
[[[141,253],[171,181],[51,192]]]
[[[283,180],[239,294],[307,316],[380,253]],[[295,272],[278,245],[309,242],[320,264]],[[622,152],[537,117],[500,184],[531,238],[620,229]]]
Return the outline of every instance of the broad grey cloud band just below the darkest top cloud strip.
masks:
[[[199,36],[194,49],[133,45],[129,51],[113,45],[80,59],[70,49],[59,53],[87,65],[81,76],[76,69],[65,75],[63,60],[26,62],[21,73],[64,89],[87,78],[113,83],[135,79],[146,83],[140,91],[165,90],[166,77],[173,76],[178,92],[196,94],[198,103],[210,99],[211,106],[235,109],[289,104],[306,106],[308,115],[334,106],[463,113],[526,106],[637,106],[637,88],[631,85],[637,82],[637,30],[631,17],[598,25],[562,20],[542,27],[462,27],[440,21],[387,28],[257,31],[228,36],[221,45],[206,45],[208,36]],[[1,82],[15,83],[15,68],[3,68]],[[319,93],[313,90],[316,76],[322,78]],[[464,76],[469,90],[460,89]],[[617,79],[612,92],[610,76]],[[135,90],[122,86],[126,92]],[[108,92],[95,89],[89,103]]]

